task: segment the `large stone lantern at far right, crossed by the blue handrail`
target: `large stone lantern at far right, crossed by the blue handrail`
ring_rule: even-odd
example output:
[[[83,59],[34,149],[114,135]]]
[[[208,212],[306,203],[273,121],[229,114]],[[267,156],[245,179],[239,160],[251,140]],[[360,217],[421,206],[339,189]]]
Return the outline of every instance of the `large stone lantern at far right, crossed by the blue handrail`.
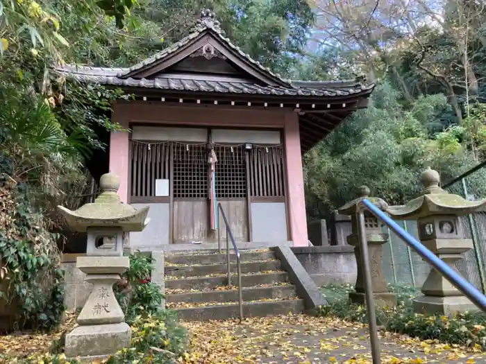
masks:
[[[421,173],[420,182],[424,186],[422,196],[406,205],[389,207],[387,212],[395,219],[417,220],[421,243],[458,272],[455,264],[473,248],[473,241],[464,239],[459,216],[483,211],[486,200],[468,201],[444,191],[439,187],[439,173],[430,167]],[[430,270],[421,291],[424,295],[413,302],[417,313],[449,315],[476,309],[435,269]]]

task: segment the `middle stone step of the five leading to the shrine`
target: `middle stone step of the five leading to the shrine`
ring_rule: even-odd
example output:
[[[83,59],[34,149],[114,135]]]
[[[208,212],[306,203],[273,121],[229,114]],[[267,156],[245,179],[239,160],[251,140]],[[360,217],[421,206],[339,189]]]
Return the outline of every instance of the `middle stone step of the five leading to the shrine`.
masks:
[[[258,284],[275,284],[277,282],[287,281],[287,272],[261,273],[255,275],[242,275],[242,286],[252,287]],[[238,277],[233,274],[231,283],[237,284]],[[217,286],[227,284],[228,277],[221,275],[217,277],[185,277],[181,279],[165,279],[165,288],[169,289],[214,289]]]

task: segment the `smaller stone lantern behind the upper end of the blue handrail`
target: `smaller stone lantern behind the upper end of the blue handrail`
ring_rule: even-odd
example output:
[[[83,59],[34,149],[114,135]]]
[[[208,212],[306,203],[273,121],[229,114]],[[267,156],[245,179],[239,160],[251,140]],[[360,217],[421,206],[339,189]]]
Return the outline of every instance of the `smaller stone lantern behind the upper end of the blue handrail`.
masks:
[[[355,304],[365,304],[364,295],[364,272],[362,268],[362,258],[359,245],[359,225],[358,212],[360,211],[360,202],[366,198],[380,210],[387,209],[387,203],[381,198],[369,197],[369,188],[362,186],[358,189],[359,198],[348,202],[338,211],[343,215],[351,215],[352,233],[347,236],[347,241],[354,246],[356,264],[358,266],[358,277],[356,278],[355,291],[349,293],[349,300]],[[364,223],[366,226],[366,237],[369,250],[369,267],[371,270],[371,286],[373,296],[377,306],[396,306],[396,295],[389,293],[385,275],[381,268],[383,244],[388,241],[388,234],[382,231],[383,224],[371,214],[364,210]]]

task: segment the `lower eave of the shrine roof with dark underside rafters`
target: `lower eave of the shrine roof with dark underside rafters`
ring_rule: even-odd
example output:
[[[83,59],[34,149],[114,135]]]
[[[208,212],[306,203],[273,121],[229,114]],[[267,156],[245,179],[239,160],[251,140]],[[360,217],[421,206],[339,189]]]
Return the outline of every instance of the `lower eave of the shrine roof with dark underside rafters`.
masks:
[[[75,77],[74,75],[71,76],[81,83],[92,82],[89,80],[90,76],[84,74],[78,77]],[[312,95],[311,92],[302,94],[304,89],[301,89],[301,87],[288,89],[289,92],[292,92],[293,94],[270,94],[258,91],[252,93],[228,91],[204,92],[199,90],[192,91],[189,89],[181,90],[144,87],[143,80],[140,80],[140,83],[137,83],[137,85],[112,85],[108,83],[108,80],[106,82],[107,83],[92,83],[99,83],[106,87],[122,89],[129,94],[133,94],[144,100],[146,99],[147,101],[160,101],[161,98],[182,98],[184,102],[194,102],[199,100],[201,102],[207,101],[210,103],[218,101],[218,103],[221,104],[224,102],[236,102],[245,104],[251,103],[252,106],[268,105],[268,107],[279,107],[279,105],[285,105],[285,107],[292,107],[292,109],[295,109],[295,112],[299,113],[302,153],[307,152],[315,146],[315,144],[324,139],[353,112],[367,107],[369,96],[375,87],[374,84],[362,86],[351,83],[351,81],[344,86],[344,81],[338,81],[335,83],[325,83],[326,85],[332,84],[334,87],[319,89],[316,87],[317,84],[322,87],[324,83],[305,81],[305,85],[313,83],[313,87],[308,87],[307,91],[313,89],[316,92],[321,92],[321,94],[324,91],[328,92],[328,95],[326,96],[316,96]],[[341,85],[341,88],[337,87],[337,85]]]

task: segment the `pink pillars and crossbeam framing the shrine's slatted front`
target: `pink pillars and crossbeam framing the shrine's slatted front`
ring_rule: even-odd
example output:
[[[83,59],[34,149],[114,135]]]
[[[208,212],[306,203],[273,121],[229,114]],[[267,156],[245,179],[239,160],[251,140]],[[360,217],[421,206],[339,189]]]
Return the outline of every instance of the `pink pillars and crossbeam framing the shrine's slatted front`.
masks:
[[[291,239],[295,246],[308,243],[299,116],[288,109],[244,109],[223,106],[171,105],[151,102],[121,102],[112,107],[112,121],[128,128],[130,123],[165,125],[240,126],[284,128],[287,164],[287,202]],[[111,132],[110,171],[120,177],[118,194],[128,201],[128,132]]]

